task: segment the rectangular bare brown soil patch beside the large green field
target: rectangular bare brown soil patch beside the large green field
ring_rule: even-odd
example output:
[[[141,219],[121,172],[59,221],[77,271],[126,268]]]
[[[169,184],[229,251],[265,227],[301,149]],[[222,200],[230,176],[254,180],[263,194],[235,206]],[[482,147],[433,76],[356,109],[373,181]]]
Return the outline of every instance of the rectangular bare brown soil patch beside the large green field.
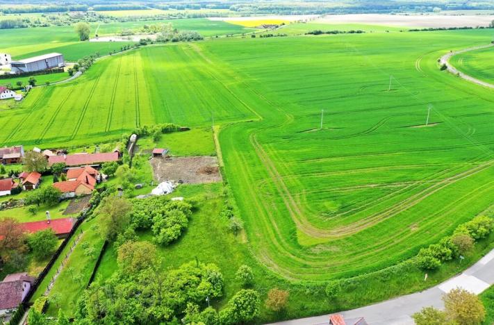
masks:
[[[154,157],[151,166],[158,182],[197,184],[222,181],[216,157]]]

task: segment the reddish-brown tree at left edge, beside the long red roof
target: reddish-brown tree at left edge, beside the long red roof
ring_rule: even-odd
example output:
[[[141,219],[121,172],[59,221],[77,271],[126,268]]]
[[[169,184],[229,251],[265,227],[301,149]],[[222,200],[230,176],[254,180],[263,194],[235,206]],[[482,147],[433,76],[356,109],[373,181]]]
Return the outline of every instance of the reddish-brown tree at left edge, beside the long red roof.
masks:
[[[17,254],[26,251],[26,235],[13,218],[0,220],[0,262],[8,263]]]

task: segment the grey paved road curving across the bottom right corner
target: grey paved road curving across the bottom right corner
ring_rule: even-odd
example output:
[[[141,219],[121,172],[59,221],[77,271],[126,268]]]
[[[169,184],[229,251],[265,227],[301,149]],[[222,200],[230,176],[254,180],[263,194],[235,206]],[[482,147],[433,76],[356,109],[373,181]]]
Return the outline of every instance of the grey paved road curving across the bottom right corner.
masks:
[[[365,317],[369,324],[409,325],[414,324],[411,315],[427,306],[443,308],[441,297],[453,288],[461,287],[475,294],[479,294],[494,284],[494,249],[475,265],[454,278],[436,285],[422,292],[408,294],[365,306],[354,310],[347,310],[338,314],[345,318]],[[328,324],[329,315],[294,319],[277,325],[315,325]]]

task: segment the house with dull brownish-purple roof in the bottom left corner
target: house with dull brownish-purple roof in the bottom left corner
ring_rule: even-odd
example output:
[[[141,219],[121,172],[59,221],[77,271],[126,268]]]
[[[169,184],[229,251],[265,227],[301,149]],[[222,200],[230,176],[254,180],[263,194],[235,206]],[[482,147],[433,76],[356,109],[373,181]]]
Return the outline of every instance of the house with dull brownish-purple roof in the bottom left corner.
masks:
[[[0,317],[13,313],[22,303],[35,278],[28,276],[26,272],[8,274],[0,282]]]

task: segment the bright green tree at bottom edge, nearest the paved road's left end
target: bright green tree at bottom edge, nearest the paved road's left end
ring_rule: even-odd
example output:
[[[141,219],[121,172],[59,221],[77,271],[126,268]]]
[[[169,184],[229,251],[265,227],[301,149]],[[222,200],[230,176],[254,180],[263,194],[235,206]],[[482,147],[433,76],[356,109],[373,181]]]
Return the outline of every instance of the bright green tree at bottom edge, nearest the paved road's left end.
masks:
[[[252,289],[242,289],[228,302],[228,307],[220,313],[220,322],[223,324],[237,324],[252,322],[258,317],[261,306],[259,294]]]

